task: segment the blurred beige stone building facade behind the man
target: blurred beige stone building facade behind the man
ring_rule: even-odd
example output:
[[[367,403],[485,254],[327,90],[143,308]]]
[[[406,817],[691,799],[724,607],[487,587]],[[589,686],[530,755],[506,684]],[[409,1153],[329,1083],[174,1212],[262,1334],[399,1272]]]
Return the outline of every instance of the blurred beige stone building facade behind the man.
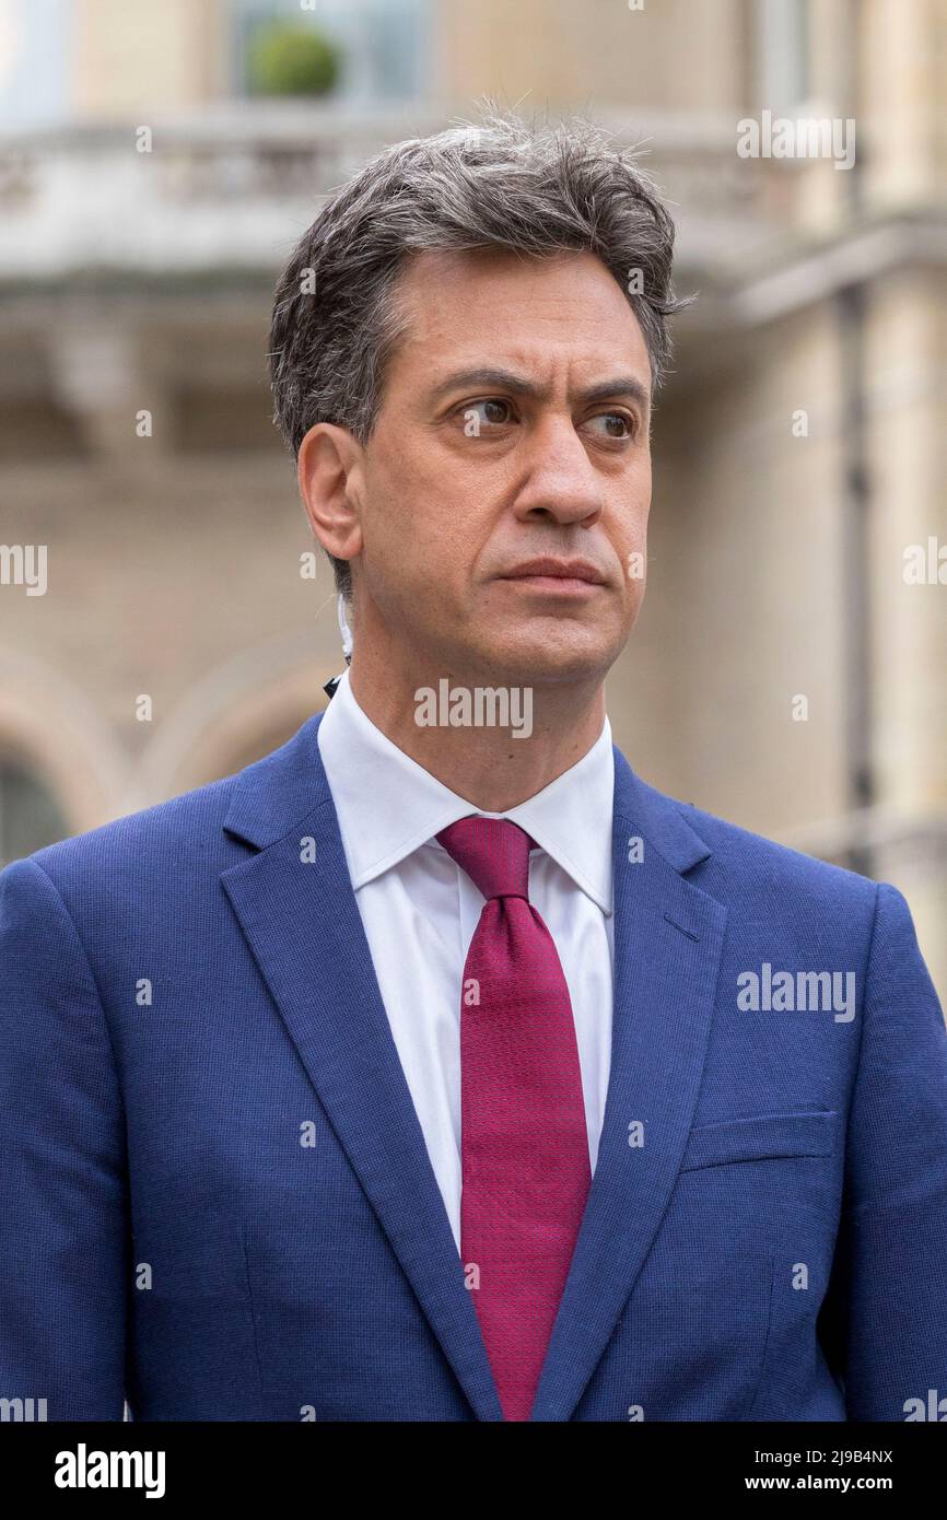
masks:
[[[331,97],[248,93],[277,12],[337,40]],[[0,860],[324,704],[334,594],[321,556],[301,575],[271,423],[275,275],[369,152],[493,94],[646,141],[699,293],[617,743],[900,886],[947,994],[945,85],[942,0],[0,0]],[[854,163],[842,137],[743,157],[746,120],[853,122]],[[17,546],[47,546],[44,594]]]

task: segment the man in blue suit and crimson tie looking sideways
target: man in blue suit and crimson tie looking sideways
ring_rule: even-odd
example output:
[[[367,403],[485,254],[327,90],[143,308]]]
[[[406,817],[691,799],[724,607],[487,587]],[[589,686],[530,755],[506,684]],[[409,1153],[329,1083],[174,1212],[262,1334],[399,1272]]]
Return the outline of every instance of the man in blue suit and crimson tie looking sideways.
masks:
[[[281,278],[325,714],[0,898],[0,1394],[50,1420],[904,1420],[947,1035],[891,886],[634,775],[672,223],[591,128],[403,143]]]

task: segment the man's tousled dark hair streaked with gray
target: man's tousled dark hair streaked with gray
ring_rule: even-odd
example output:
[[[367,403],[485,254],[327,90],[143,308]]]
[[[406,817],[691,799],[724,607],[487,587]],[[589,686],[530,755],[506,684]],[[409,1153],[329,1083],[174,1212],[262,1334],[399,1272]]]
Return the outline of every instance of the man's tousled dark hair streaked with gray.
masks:
[[[529,126],[493,108],[480,126],[395,143],[340,185],[299,239],[275,292],[274,423],[293,454],[316,423],[371,438],[385,369],[407,331],[395,286],[424,249],[593,252],[634,310],[652,388],[670,359],[673,222],[634,149],[584,117]],[[635,280],[629,277],[632,272]],[[351,568],[330,555],[336,590]]]

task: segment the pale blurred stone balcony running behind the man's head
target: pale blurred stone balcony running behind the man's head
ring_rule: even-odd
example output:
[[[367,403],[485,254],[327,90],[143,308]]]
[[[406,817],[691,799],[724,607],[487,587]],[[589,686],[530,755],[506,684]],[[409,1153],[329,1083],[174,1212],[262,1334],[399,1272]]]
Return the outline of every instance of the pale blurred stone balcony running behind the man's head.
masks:
[[[254,103],[166,122],[0,134],[0,281],[269,274],[322,195],[385,143],[445,120],[448,112],[433,109],[369,116]],[[687,266],[725,272],[737,252],[746,258],[780,231],[792,166],[737,158],[731,120],[643,116],[607,125],[617,141],[645,143],[645,167],[679,214]]]

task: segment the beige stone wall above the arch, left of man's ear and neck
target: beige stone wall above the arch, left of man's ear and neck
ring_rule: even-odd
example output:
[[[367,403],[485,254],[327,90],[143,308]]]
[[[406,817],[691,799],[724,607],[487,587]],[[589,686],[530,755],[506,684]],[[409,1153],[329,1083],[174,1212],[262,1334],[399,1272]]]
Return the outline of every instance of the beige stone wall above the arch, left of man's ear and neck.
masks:
[[[328,565],[315,584],[299,575],[310,537],[289,459],[274,447],[154,470],[147,447],[17,471],[49,590],[0,596],[0,731],[32,751],[76,830],[266,752],[339,669]]]

